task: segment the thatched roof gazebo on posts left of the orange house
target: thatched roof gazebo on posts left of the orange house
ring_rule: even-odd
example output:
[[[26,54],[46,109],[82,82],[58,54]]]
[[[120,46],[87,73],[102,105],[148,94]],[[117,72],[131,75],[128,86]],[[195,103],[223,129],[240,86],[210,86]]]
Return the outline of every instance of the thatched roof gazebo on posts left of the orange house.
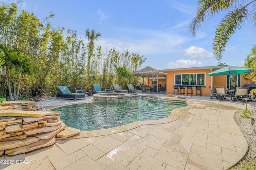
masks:
[[[142,80],[144,77],[156,77],[156,92],[158,92],[158,77],[166,77],[166,73],[160,72],[150,66],[146,66],[133,73],[134,76],[141,76]]]

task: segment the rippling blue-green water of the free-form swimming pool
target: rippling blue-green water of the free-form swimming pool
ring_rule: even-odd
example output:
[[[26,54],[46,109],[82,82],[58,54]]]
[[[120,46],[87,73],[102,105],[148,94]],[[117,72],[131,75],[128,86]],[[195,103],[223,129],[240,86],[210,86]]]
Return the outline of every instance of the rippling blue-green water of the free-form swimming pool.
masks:
[[[171,96],[140,96],[127,102],[93,102],[62,106],[60,119],[81,131],[106,129],[135,121],[168,117],[172,109],[185,107],[186,99]]]

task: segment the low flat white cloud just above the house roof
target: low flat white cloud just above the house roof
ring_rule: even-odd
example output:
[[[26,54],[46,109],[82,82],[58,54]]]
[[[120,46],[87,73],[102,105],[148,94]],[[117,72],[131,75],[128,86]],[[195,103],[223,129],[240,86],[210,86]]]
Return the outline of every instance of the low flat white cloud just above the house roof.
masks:
[[[169,62],[168,67],[169,68],[188,68],[188,67],[199,67],[204,66],[204,64],[201,61],[196,60],[176,60],[176,62]]]

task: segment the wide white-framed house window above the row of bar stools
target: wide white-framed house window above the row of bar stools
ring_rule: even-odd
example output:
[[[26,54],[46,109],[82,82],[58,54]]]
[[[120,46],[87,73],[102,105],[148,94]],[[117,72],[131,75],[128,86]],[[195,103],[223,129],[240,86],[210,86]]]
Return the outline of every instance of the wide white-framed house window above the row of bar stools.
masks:
[[[175,74],[175,85],[205,85],[205,73]]]

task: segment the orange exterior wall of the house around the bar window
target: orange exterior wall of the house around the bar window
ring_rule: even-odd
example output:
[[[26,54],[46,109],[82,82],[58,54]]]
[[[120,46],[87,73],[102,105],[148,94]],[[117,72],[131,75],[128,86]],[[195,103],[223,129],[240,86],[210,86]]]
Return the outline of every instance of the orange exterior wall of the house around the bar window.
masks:
[[[214,71],[214,70],[212,70]],[[166,94],[173,94],[174,90],[174,74],[192,74],[192,73],[205,73],[206,74],[206,80],[205,80],[205,87],[202,87],[202,96],[210,96],[210,89],[209,86],[211,86],[211,76],[208,76],[207,74],[210,73],[209,69],[198,69],[198,70],[177,70],[177,71],[167,71],[167,79],[166,79]],[[251,84],[251,80],[245,80],[240,75],[240,86],[243,86],[244,84]],[[212,76],[212,90],[215,90],[215,86],[224,86],[224,88],[227,88],[227,76]],[[196,95],[196,87],[192,87],[193,89],[193,95]],[[185,87],[185,93],[187,95],[187,87]]]

